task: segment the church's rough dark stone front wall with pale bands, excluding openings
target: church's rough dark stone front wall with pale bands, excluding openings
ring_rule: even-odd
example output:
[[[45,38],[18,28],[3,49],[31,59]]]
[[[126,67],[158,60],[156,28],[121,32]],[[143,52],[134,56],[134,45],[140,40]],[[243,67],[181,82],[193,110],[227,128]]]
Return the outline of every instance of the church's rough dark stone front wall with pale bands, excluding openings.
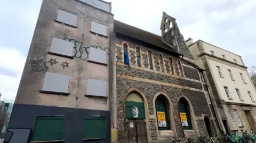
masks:
[[[131,64],[130,68],[127,65],[122,64],[122,62],[124,62],[122,45],[124,43],[126,43],[128,46]],[[137,67],[137,63],[134,63],[134,61],[137,62],[137,57],[135,56],[135,47],[140,48],[141,67]],[[148,51],[150,51],[151,55],[153,56],[153,70],[150,70],[149,67]],[[159,53],[163,55],[164,72],[161,72],[162,70],[158,57]],[[174,73],[170,72],[171,69],[169,58],[172,59]],[[177,64],[178,59],[180,58],[159,52],[153,48],[146,47],[141,43],[135,43],[130,39],[121,39],[116,37],[117,128],[119,130],[118,142],[124,142],[125,139],[127,139],[124,112],[125,109],[123,107],[125,100],[124,98],[126,96],[125,94],[127,94],[126,92],[131,88],[138,89],[143,95],[146,96],[148,108],[145,110],[149,115],[149,119],[146,124],[149,125],[150,140],[157,140],[159,138],[157,133],[158,127],[156,124],[157,119],[153,107],[153,98],[157,92],[161,91],[171,99],[170,104],[173,106],[174,117],[173,119],[170,119],[170,122],[174,121],[178,137],[182,138],[184,136],[178,107],[178,101],[182,96],[186,97],[188,102],[191,103],[195,116],[202,116],[202,114],[204,114],[211,117],[211,111],[204,95],[204,90],[198,71],[195,68],[189,68],[194,67],[195,65],[189,64],[188,62],[184,62],[184,60],[180,59],[181,64],[183,65],[182,69],[184,70],[182,72],[185,74],[185,77],[181,77],[179,76],[179,68]],[[142,81],[141,79],[145,79],[146,81]],[[159,85],[156,82],[166,83],[166,85]],[[168,84],[173,86],[169,86]],[[197,129],[205,131],[206,128],[204,127],[204,124],[200,124]]]

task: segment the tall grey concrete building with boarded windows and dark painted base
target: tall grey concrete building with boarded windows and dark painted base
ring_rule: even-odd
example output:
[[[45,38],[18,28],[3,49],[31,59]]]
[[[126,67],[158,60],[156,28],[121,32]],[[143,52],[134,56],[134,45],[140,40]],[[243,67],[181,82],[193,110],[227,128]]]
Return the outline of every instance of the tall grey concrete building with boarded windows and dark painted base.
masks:
[[[43,1],[5,141],[110,142],[113,17],[104,1]]]

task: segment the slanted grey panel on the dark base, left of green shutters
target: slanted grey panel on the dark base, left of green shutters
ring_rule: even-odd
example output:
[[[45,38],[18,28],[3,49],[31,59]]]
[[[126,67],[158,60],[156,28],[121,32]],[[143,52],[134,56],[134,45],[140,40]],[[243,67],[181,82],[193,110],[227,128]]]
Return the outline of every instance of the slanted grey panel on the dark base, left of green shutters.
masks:
[[[30,142],[32,129],[8,128],[4,137],[4,143],[27,143]]]

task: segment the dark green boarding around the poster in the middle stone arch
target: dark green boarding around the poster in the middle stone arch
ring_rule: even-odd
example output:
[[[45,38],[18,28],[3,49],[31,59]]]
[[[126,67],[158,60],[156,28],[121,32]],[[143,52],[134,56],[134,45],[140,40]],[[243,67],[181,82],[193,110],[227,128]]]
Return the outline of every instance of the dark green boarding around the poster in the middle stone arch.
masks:
[[[159,124],[157,124],[158,130],[170,130],[169,113],[167,112],[167,106],[161,97],[157,97],[156,99],[156,115],[157,112],[164,112],[166,120],[166,127],[159,127]]]

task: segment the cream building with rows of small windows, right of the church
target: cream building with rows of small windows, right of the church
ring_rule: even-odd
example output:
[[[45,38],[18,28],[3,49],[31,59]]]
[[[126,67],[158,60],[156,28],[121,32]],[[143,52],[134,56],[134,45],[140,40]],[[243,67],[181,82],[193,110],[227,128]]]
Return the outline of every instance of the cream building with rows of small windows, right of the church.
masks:
[[[256,131],[256,92],[241,56],[202,40],[188,39],[186,44],[196,64],[205,70],[221,130]]]

